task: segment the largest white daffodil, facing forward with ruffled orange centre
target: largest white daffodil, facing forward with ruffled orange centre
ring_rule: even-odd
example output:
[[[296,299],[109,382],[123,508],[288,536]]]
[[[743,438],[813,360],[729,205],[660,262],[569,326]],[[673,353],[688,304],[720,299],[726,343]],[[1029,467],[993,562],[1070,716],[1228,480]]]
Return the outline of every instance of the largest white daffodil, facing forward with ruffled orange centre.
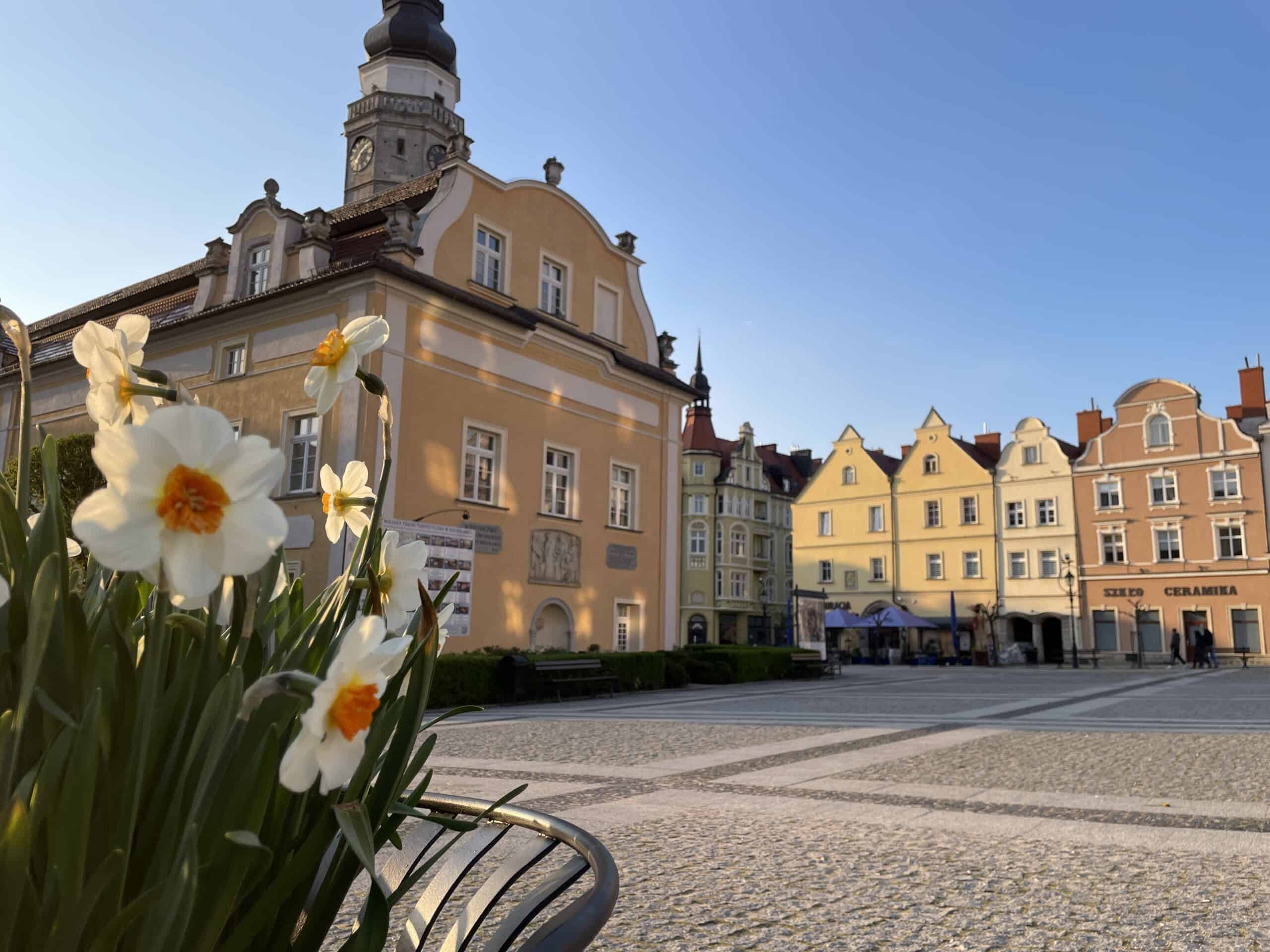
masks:
[[[171,592],[206,598],[226,575],[259,571],[287,536],[269,499],[282,453],[263,437],[235,440],[211,407],[165,406],[140,426],[99,430],[93,461],[107,486],[71,528],[108,569],[161,562]]]

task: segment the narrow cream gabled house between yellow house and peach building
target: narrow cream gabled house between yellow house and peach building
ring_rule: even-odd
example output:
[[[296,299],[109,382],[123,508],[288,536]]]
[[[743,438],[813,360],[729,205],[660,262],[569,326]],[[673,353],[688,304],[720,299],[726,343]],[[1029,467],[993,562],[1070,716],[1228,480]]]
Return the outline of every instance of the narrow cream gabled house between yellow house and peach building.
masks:
[[[1080,574],[1072,459],[1080,449],[1035,416],[1019,421],[996,466],[1001,546],[1001,628],[1005,641],[1031,644],[1041,661],[1071,650],[1081,607],[1063,586]]]

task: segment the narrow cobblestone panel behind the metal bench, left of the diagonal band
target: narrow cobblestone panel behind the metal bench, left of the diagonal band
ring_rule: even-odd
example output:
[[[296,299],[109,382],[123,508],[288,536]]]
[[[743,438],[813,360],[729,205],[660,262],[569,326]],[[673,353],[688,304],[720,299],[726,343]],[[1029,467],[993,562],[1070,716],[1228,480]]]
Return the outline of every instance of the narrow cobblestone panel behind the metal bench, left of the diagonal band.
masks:
[[[436,755],[626,765],[824,732],[824,727],[744,727],[673,721],[626,721],[621,730],[613,730],[602,721],[509,721],[448,730],[442,725],[437,730]]]

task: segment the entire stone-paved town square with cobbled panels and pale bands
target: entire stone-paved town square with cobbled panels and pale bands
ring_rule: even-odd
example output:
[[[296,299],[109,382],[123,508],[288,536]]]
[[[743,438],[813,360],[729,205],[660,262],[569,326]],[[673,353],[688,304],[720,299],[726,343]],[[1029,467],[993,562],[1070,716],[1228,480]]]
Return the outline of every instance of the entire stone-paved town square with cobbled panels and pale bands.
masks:
[[[1270,949],[1270,669],[856,666],[438,734],[434,790],[528,783],[610,848],[596,949]]]

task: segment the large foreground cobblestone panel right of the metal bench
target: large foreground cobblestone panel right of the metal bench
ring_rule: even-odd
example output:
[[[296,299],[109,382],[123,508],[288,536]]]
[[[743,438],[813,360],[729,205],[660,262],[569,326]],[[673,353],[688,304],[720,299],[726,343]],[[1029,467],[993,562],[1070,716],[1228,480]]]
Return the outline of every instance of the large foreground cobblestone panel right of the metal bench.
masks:
[[[693,816],[608,830],[622,899],[592,948],[1270,948],[1270,878],[1240,857]]]

